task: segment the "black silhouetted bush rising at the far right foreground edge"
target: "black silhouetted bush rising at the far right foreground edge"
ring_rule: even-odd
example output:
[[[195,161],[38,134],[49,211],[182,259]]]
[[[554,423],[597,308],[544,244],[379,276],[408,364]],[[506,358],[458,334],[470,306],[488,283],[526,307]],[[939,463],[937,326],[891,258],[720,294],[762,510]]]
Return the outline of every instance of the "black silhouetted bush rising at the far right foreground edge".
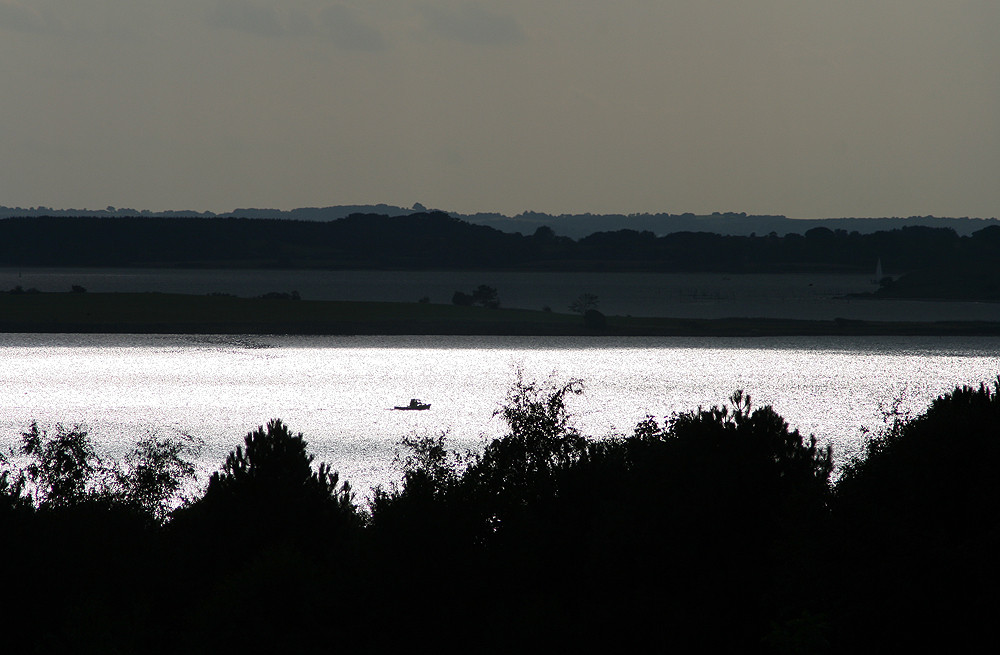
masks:
[[[837,598],[846,646],[993,638],[1000,585],[1000,380],[894,415],[836,486]]]

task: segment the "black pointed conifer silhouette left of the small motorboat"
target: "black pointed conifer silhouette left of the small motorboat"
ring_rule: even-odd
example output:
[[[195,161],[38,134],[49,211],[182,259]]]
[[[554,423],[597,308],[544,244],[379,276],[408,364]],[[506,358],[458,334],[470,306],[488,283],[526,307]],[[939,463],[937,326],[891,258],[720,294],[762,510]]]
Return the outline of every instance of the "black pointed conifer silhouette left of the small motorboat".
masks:
[[[186,614],[199,645],[299,652],[327,638],[319,624],[351,643],[363,525],[350,486],[313,466],[301,433],[278,419],[247,433],[169,526],[175,566],[211,579]]]

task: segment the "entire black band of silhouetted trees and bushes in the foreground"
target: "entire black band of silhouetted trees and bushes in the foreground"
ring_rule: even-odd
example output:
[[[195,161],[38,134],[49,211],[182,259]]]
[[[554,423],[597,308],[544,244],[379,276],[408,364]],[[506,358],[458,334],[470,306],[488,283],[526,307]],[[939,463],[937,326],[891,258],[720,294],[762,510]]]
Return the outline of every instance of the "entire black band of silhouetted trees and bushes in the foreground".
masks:
[[[277,420],[172,511],[191,444],[109,463],[33,425],[0,477],[0,628],[44,653],[963,651],[995,639],[998,390],[894,416],[831,484],[741,392],[593,440],[579,382],[518,380],[506,436],[405,439],[367,509]]]

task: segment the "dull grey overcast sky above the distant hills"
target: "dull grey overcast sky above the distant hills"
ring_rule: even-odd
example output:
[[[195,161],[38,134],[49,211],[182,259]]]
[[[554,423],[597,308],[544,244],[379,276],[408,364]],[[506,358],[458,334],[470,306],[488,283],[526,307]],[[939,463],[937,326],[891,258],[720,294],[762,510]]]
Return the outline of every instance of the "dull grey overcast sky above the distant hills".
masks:
[[[1000,216],[998,0],[0,0],[0,204]]]

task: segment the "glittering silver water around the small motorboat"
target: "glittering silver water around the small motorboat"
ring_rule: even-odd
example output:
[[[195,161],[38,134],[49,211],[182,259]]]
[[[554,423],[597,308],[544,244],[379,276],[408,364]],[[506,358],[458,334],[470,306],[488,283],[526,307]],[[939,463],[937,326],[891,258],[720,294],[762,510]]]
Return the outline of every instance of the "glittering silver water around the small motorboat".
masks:
[[[924,409],[956,384],[1000,373],[1000,338],[516,338],[0,335],[0,436],[32,420],[82,424],[103,452],[148,434],[206,442],[202,475],[243,435],[280,417],[355,489],[399,477],[396,444],[449,431],[478,448],[517,369],[585,383],[571,409],[595,437],[647,414],[719,404],[738,388],[794,428],[857,451],[860,427],[902,395]],[[426,412],[392,411],[412,397]]]

